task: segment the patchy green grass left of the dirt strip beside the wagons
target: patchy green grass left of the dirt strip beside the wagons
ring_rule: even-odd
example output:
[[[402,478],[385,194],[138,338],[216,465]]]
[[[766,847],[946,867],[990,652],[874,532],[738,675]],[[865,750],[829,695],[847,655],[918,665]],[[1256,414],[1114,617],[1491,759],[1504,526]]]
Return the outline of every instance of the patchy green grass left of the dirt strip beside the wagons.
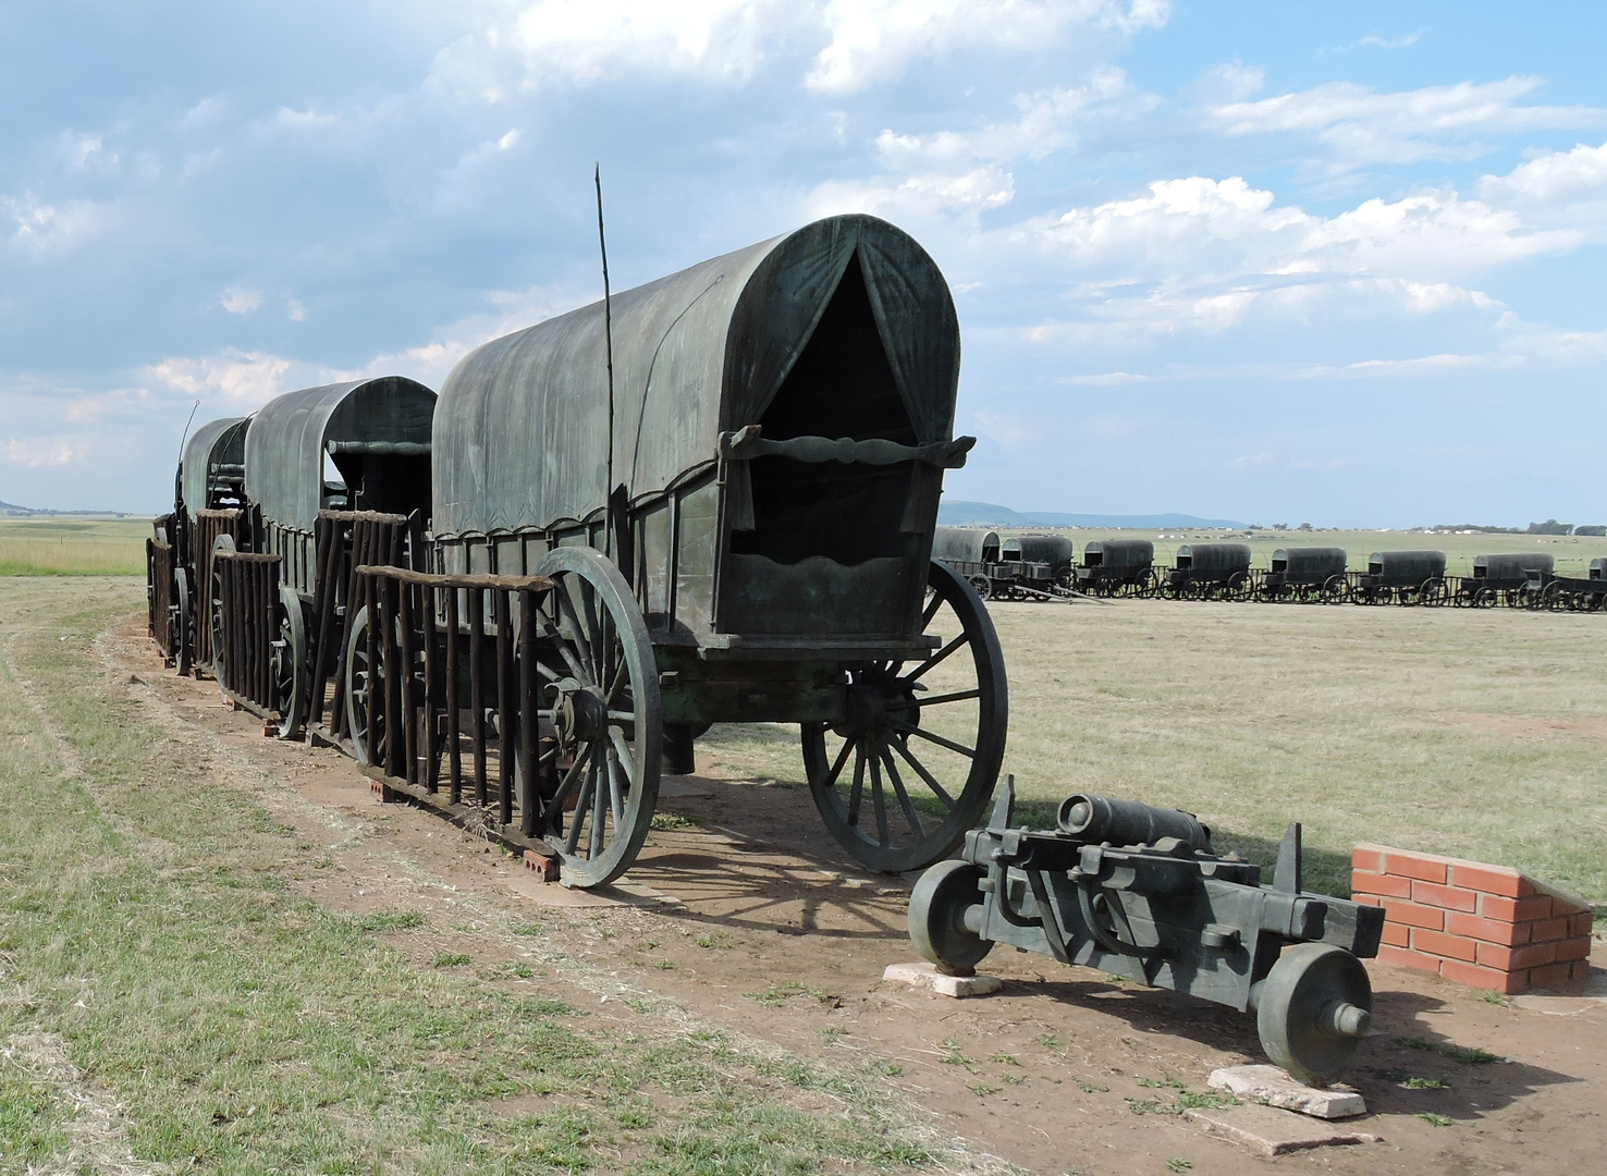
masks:
[[[431,967],[402,951],[431,933],[418,913],[297,896],[325,850],[212,779],[103,672],[95,635],[135,607],[127,580],[0,585],[0,1173],[927,1163],[842,1076],[583,1014],[558,980],[537,999]],[[804,1089],[840,1105],[802,1109]]]

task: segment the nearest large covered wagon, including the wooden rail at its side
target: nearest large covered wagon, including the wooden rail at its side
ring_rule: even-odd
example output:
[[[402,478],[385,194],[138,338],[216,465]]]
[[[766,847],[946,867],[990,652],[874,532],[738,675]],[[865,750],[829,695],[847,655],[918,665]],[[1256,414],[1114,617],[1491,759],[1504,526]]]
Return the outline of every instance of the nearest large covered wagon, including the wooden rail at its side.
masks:
[[[945,856],[1008,720],[987,610],[932,559],[942,474],[974,443],[958,361],[937,267],[857,215],[464,357],[435,408],[427,567],[357,569],[365,771],[450,811],[468,792],[501,840],[601,885],[701,729],[799,723],[855,858]]]

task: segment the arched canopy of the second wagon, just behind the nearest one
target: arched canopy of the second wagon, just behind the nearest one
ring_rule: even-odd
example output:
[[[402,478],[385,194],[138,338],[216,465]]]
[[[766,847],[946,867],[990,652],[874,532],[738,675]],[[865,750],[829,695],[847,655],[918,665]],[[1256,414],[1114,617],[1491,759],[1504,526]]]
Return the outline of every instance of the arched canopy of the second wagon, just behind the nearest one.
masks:
[[[354,379],[286,392],[246,431],[246,496],[264,519],[312,532],[323,501],[329,442],[429,445],[435,394],[405,376]]]

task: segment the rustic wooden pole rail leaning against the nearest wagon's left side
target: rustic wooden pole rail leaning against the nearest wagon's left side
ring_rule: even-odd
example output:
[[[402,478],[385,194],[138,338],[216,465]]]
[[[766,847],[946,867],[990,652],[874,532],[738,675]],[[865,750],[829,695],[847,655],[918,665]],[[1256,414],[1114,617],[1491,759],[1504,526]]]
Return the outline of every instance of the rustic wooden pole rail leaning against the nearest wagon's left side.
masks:
[[[387,794],[444,811],[513,848],[546,850],[537,827],[537,606],[545,575],[431,574],[354,564],[354,652],[371,667],[366,713],[347,715]],[[347,708],[350,710],[350,707]]]

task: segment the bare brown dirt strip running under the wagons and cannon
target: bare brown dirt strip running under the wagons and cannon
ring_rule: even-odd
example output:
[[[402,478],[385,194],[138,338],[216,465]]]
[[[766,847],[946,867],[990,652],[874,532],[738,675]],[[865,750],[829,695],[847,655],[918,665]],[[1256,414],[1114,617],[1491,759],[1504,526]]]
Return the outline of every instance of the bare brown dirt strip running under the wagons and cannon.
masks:
[[[431,813],[381,803],[337,752],[262,737],[260,721],[223,705],[211,683],[162,670],[143,631],[130,627],[108,649],[137,678],[132,689],[149,689],[182,723],[214,733],[299,794],[304,803],[280,818],[323,860],[288,869],[320,903],[416,908],[418,879],[427,877],[704,1022],[842,1070],[890,1075],[934,1112],[934,1126],[1028,1171],[1163,1173],[1168,1160],[1188,1160],[1196,1173],[1321,1165],[1422,1176],[1585,1173],[1599,1163],[1607,1004],[1575,999],[1538,1012],[1371,966],[1376,1033],[1348,1078],[1374,1112],[1361,1129],[1384,1142],[1261,1160],[1167,1113],[1178,1084],[1204,1091],[1212,1068],[1261,1060],[1250,1019],[1004,949],[983,964],[1004,978],[985,999],[882,983],[887,964],[913,958],[903,908],[914,879],[848,868],[802,790],[669,779],[659,811],[696,824],[656,831],[625,885],[570,892]],[[450,919],[397,941],[421,962],[437,951],[477,961],[493,953],[472,924]],[[1594,959],[1607,966],[1601,943]],[[1405,1038],[1511,1060],[1467,1065]],[[1443,1078],[1450,1089],[1408,1089],[1403,1075]],[[1421,1112],[1453,1123],[1435,1126]]]

